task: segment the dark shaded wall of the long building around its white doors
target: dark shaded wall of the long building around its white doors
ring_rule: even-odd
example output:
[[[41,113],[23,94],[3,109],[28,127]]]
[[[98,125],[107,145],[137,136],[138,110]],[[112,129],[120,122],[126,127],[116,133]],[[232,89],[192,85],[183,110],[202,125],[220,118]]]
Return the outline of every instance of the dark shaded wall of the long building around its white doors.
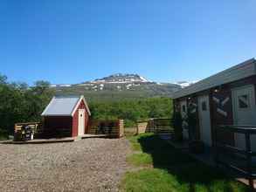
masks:
[[[194,93],[183,98],[174,99],[174,105],[177,111],[180,111],[180,101],[183,99],[190,100],[197,104],[197,97],[200,95],[209,95],[210,99],[210,113],[211,113],[211,137],[212,141],[215,138],[215,127],[218,125],[232,125],[233,111],[232,111],[232,88],[239,86],[254,85],[256,89],[256,76],[246,79],[240,79],[229,84],[214,87],[201,93]],[[189,105],[189,103],[188,103]],[[198,113],[197,113],[198,117]],[[197,138],[200,138],[199,121],[197,118]],[[218,139],[225,141],[225,143],[234,145],[234,135],[230,133],[218,134]]]

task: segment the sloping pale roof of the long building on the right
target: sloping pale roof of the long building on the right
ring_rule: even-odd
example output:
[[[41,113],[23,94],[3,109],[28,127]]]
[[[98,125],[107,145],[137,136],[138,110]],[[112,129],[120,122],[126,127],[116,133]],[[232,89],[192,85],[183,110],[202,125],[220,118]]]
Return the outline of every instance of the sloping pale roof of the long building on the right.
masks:
[[[223,72],[218,72],[209,78],[198,81],[197,83],[187,86],[173,94],[173,99],[182,98],[184,96],[202,92],[215,86],[221,86],[239,79],[256,75],[256,60],[251,58],[245,62],[235,65]]]

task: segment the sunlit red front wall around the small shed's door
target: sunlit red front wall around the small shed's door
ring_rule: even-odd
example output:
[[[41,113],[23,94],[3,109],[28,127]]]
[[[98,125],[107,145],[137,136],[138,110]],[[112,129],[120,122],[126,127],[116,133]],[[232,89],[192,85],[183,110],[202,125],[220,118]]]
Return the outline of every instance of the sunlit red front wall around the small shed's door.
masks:
[[[76,137],[78,135],[78,129],[79,129],[79,110],[85,109],[86,111],[86,105],[84,101],[82,100],[80,102],[80,106],[77,108],[76,112],[73,114],[73,122],[72,122],[72,136]],[[85,113],[85,134],[88,131],[88,122],[89,122],[89,114],[86,111]]]

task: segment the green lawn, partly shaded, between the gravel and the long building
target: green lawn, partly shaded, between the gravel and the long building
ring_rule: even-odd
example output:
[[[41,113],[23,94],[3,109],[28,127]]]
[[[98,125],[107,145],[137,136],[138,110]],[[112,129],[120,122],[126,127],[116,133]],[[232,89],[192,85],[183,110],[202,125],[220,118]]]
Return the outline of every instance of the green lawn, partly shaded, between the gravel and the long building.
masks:
[[[128,140],[134,154],[127,161],[137,170],[124,175],[123,191],[249,191],[221,170],[183,154],[155,134]]]

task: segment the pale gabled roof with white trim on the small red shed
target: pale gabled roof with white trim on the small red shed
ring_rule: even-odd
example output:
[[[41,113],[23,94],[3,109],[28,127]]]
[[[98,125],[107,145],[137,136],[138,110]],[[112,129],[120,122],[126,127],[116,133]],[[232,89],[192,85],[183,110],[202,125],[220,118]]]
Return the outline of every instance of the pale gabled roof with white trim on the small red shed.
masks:
[[[81,96],[58,96],[53,97],[48,106],[45,107],[42,116],[73,116],[81,101],[86,105],[86,111],[91,115],[86,99]]]

